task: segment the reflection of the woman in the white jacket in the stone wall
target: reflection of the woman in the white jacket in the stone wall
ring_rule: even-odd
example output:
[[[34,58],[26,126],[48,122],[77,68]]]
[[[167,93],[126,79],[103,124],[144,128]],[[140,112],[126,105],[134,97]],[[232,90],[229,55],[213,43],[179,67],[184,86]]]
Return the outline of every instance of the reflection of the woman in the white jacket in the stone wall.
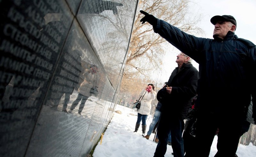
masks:
[[[87,99],[91,96],[90,90],[93,86],[97,86],[97,82],[99,82],[98,68],[96,65],[92,65],[90,69],[87,69],[82,77],[84,77],[84,81],[81,83],[78,88],[78,95],[76,100],[72,103],[70,110],[68,113],[72,113],[73,109],[76,108],[78,103],[81,101],[78,114],[81,115],[82,110],[84,109],[84,104]]]

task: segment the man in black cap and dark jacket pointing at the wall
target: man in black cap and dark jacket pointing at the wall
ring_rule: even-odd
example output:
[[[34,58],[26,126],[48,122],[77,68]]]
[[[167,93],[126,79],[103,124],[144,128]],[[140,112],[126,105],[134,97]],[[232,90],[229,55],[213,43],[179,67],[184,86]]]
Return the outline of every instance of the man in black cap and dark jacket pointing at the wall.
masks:
[[[180,51],[199,64],[196,104],[196,150],[193,156],[209,156],[217,128],[218,152],[215,157],[234,157],[242,125],[246,119],[244,107],[256,100],[256,45],[235,35],[236,19],[231,15],[214,16],[213,39],[187,34],[145,11],[140,21],[148,22]],[[256,106],[252,117],[256,120]],[[229,141],[227,147],[226,141]]]

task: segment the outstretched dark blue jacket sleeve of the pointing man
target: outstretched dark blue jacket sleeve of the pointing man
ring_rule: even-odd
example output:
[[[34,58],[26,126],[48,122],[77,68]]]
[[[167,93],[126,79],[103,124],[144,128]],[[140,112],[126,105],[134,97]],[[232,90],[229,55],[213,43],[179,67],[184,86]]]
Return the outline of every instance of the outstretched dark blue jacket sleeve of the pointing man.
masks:
[[[199,38],[187,34],[179,28],[160,19],[157,19],[157,25],[154,27],[154,32],[198,63],[198,55],[195,55],[195,52],[199,52],[203,49],[204,43],[207,41],[206,38]]]

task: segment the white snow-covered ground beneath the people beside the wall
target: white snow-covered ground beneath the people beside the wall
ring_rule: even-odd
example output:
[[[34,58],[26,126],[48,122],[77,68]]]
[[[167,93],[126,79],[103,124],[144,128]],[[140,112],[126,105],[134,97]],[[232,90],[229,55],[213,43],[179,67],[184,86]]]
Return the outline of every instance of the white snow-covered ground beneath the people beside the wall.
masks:
[[[138,132],[133,132],[137,121],[137,112],[134,109],[117,105],[111,122],[108,124],[102,142],[96,146],[93,157],[151,157],[154,156],[157,143],[153,142],[155,134],[151,134],[147,140],[141,136],[141,126]],[[147,130],[152,121],[152,116],[148,116]],[[213,157],[217,152],[216,144],[218,137],[215,136],[209,157]],[[228,145],[227,145],[228,147]],[[172,146],[167,145],[165,157],[173,157]],[[252,143],[249,146],[239,145],[236,154],[239,157],[255,157],[256,146]]]

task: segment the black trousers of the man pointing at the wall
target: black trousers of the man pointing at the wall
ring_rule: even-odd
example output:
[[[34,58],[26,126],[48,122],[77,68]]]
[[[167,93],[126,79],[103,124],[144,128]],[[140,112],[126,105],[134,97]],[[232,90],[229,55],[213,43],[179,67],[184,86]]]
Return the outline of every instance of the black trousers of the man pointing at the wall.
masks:
[[[236,112],[237,113],[237,112]],[[193,156],[208,157],[217,128],[218,152],[214,157],[234,157],[241,136],[243,120],[239,114],[200,114],[197,117],[196,150]],[[227,146],[228,145],[228,146]]]

